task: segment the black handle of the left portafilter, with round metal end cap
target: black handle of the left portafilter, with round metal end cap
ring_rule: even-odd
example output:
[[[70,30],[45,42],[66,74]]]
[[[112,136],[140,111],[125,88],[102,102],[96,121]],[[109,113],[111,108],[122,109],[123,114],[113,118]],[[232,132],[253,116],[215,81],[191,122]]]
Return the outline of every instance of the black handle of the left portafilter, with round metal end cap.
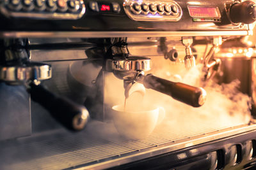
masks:
[[[29,84],[31,99],[47,109],[52,117],[72,131],[81,131],[90,119],[88,110],[66,97],[59,97],[42,85]]]

